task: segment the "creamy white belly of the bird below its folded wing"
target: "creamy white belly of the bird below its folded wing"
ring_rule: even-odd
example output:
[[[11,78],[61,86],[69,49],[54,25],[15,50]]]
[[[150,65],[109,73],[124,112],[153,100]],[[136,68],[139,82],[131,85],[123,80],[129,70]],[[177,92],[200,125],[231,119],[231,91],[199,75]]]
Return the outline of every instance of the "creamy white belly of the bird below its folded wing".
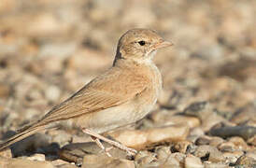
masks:
[[[154,101],[155,102],[155,101]],[[153,103],[153,102],[152,102]],[[121,126],[126,126],[144,118],[152,109],[152,103],[137,105],[128,103],[92,112],[74,119],[74,124],[90,129],[95,133],[104,133]]]

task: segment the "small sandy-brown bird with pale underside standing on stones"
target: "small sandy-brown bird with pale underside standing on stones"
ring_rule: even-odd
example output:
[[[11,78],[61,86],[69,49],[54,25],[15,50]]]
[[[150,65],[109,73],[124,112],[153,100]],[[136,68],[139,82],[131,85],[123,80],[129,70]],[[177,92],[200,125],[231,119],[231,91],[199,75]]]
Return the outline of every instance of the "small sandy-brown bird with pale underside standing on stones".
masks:
[[[158,49],[172,46],[150,29],[135,28],[121,35],[112,66],[75,92],[60,105],[55,105],[41,119],[32,121],[0,143],[0,151],[22,139],[65,122],[92,137],[111,156],[101,141],[118,147],[129,155],[134,148],[101,135],[143,119],[156,104],[163,79],[153,58]]]

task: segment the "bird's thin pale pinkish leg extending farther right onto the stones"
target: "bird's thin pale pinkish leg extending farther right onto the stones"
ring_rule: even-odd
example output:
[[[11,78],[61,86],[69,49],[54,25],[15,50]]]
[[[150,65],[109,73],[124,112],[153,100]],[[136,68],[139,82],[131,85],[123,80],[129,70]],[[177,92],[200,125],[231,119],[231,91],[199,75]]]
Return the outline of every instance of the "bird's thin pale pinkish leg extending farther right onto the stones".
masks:
[[[108,138],[106,138],[106,137],[104,137],[104,136],[102,136],[102,135],[100,135],[100,134],[98,134],[98,133],[93,133],[93,132],[92,132],[91,130],[89,130],[89,129],[82,129],[82,131],[83,131],[83,133],[87,133],[87,134],[89,134],[89,135],[95,137],[96,139],[98,139],[98,141],[99,141],[99,139],[101,139],[101,140],[107,142],[108,144],[110,144],[110,145],[112,145],[112,146],[114,146],[114,147],[118,147],[118,148],[120,148],[121,150],[126,151],[126,152],[127,152],[129,155],[131,155],[131,156],[134,156],[134,155],[136,154],[136,152],[137,152],[134,148],[125,147],[124,145],[122,145],[122,144],[120,144],[120,143],[118,143],[118,142],[116,142],[116,141],[112,141],[112,140],[110,140],[110,139],[108,139]],[[96,143],[97,143],[97,142],[96,142]],[[102,145],[102,144],[101,144],[101,145]],[[102,145],[102,146],[103,146],[103,145]]]

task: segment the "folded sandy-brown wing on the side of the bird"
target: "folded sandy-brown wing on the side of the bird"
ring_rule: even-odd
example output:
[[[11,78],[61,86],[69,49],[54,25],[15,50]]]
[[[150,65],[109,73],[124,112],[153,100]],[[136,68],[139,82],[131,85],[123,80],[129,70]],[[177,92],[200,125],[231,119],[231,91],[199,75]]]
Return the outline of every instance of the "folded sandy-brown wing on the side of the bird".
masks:
[[[38,121],[43,125],[51,121],[75,118],[132,100],[149,86],[149,78],[133,72],[118,71],[112,67],[96,77],[61,105],[53,107]]]

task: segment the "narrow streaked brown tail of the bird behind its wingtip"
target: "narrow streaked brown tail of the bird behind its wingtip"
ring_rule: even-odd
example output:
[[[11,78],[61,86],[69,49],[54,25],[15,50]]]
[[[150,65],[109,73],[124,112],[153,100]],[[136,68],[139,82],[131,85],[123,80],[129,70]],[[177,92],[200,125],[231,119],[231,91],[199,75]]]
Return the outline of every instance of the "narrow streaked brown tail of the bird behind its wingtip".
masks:
[[[46,127],[44,125],[36,125],[36,124],[31,124],[28,126],[25,126],[21,129],[21,131],[18,131],[15,135],[9,137],[7,140],[4,142],[0,142],[0,151],[7,149],[7,147],[10,147],[12,144],[21,141],[22,139],[41,132],[45,130]]]

